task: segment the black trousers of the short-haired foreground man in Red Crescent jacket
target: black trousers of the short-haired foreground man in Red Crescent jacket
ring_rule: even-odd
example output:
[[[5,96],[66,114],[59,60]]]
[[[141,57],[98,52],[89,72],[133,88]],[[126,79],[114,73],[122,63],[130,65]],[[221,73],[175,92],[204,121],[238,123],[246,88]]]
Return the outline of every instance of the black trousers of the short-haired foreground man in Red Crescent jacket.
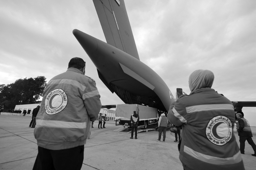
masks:
[[[33,170],[80,170],[83,160],[84,145],[62,150],[50,150],[38,146]]]

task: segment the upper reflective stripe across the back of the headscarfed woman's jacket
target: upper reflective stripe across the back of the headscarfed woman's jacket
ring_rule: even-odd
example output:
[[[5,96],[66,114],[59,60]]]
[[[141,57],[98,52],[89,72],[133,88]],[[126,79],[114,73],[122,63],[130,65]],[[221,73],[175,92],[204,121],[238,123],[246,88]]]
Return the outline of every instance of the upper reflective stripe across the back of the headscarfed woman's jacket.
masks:
[[[231,104],[210,104],[210,105],[196,105],[186,107],[187,113],[194,113],[207,110],[233,110],[234,106]]]

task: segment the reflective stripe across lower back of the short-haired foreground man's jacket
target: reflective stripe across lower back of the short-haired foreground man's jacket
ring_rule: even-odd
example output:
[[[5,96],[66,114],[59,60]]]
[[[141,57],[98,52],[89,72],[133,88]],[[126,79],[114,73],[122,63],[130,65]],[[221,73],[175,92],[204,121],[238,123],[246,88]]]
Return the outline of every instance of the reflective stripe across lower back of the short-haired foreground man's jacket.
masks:
[[[71,129],[85,129],[86,122],[64,122],[64,121],[50,121],[36,119],[36,126],[45,126],[53,128],[71,128]]]

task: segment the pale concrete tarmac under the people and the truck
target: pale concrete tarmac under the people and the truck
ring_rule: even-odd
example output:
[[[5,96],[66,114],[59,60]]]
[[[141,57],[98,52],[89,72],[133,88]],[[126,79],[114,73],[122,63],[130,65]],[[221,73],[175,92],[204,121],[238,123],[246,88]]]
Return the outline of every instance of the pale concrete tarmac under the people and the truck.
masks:
[[[0,115],[0,169],[32,169],[37,155],[36,139],[33,128],[28,125],[31,117]],[[86,170],[183,170],[179,159],[178,143],[174,143],[174,134],[166,131],[165,143],[157,142],[158,131],[138,133],[138,139],[130,139],[128,131],[115,132],[121,128],[114,121],[107,121],[106,128],[98,129],[94,122],[90,139],[84,145]],[[256,127],[252,127],[253,139]],[[236,141],[239,137],[235,132]],[[134,136],[133,136],[134,137]],[[252,147],[245,142],[245,154],[242,155],[246,170],[256,169],[256,157]]]

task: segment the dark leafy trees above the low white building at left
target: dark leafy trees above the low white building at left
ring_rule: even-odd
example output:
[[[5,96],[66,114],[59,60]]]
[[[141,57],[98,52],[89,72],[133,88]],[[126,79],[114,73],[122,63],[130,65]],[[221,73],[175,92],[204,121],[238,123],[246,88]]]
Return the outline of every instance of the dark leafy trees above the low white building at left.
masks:
[[[0,102],[5,108],[14,108],[15,105],[34,103],[44,92],[46,86],[44,76],[36,78],[20,78],[9,85],[0,85]]]

